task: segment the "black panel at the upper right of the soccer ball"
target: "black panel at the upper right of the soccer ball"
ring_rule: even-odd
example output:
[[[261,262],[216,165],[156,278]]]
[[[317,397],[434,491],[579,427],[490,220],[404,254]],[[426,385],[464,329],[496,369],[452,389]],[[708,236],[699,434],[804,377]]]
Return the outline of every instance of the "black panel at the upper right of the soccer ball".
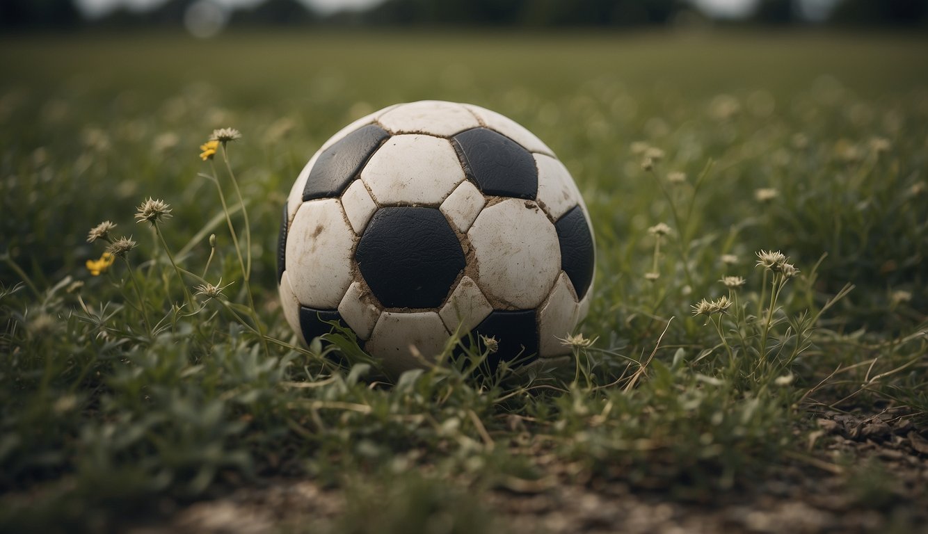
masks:
[[[535,199],[538,169],[522,145],[486,128],[461,132],[453,141],[464,172],[484,195]]]

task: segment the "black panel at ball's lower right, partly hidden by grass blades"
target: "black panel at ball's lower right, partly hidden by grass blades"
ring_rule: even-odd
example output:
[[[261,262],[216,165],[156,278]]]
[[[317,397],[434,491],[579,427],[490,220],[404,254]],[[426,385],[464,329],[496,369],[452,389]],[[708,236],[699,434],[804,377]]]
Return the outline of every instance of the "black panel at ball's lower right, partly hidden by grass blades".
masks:
[[[514,312],[491,312],[472,331],[471,337],[485,349],[481,336],[493,337],[499,343],[496,352],[489,354],[486,365],[495,371],[499,362],[518,360],[524,364],[532,362],[538,355],[538,326],[535,310],[516,310]],[[462,339],[467,345],[470,339]]]

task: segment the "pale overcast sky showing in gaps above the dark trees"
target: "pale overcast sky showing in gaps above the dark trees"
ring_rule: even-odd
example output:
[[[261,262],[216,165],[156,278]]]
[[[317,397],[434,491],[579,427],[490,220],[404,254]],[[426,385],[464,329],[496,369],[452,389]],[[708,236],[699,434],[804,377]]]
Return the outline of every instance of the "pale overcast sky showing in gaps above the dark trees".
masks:
[[[89,15],[106,13],[115,6],[131,6],[144,9],[155,6],[166,0],[76,0],[78,6]],[[262,0],[213,0],[226,6],[253,6]],[[346,7],[365,7],[376,4],[382,0],[300,0],[304,4],[316,7],[319,11],[330,13]],[[436,0],[441,1],[441,0]],[[751,12],[759,0],[691,0],[706,11],[719,17],[739,17]],[[802,0],[807,16],[817,18],[822,9],[827,9],[836,0]]]

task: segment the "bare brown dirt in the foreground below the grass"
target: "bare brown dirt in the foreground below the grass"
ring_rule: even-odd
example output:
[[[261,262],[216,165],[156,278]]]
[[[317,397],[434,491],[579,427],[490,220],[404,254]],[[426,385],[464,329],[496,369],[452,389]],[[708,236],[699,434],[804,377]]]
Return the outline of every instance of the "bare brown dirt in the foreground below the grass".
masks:
[[[739,490],[699,502],[622,481],[493,490],[483,499],[514,534],[928,532],[928,439],[901,413],[822,413],[807,455]],[[342,490],[277,480],[198,502],[134,534],[325,532],[345,510]]]

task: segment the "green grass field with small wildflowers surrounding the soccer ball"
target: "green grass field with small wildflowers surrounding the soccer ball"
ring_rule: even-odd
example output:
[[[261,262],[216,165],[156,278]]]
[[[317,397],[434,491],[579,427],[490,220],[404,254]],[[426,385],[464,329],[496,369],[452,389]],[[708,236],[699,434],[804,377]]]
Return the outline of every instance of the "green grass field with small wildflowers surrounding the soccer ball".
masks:
[[[0,530],[923,529],[926,50],[0,39]],[[580,185],[597,277],[569,368],[370,385],[350,344],[344,367],[292,345],[275,266],[290,184],[344,124],[424,98],[520,121]],[[226,154],[245,210],[224,159],[198,158],[220,127],[243,134]],[[172,209],[157,233],[135,223],[148,197]],[[137,247],[92,275],[103,221]],[[798,273],[757,265],[778,250]]]

